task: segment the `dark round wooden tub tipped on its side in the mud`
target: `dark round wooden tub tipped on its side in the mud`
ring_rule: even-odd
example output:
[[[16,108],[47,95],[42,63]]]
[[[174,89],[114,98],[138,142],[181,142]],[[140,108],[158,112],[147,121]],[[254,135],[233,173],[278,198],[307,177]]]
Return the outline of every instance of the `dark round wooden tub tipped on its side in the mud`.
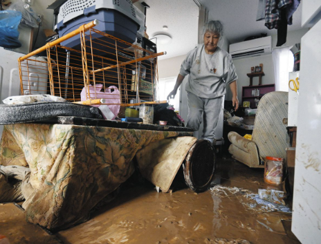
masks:
[[[197,140],[183,162],[186,184],[193,191],[206,191],[212,182],[214,169],[214,147],[208,140]]]

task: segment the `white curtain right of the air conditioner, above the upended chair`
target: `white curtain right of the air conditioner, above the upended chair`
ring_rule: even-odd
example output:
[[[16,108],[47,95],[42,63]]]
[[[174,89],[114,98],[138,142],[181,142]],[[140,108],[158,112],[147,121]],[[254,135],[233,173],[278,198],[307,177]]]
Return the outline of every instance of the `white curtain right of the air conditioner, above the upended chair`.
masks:
[[[275,91],[288,91],[288,73],[293,71],[294,57],[291,46],[275,48],[272,52]]]

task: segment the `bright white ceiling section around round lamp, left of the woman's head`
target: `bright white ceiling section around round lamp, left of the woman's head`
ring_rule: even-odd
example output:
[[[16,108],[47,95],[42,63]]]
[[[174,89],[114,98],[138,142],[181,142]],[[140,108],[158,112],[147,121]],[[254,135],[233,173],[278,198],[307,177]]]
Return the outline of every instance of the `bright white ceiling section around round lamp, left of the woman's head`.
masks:
[[[149,39],[160,33],[172,37],[172,42],[166,45],[152,40],[156,41],[158,52],[167,52],[158,59],[185,55],[195,47],[199,7],[193,0],[147,0],[145,3],[150,6],[146,16]],[[163,30],[163,26],[167,26],[168,30]]]

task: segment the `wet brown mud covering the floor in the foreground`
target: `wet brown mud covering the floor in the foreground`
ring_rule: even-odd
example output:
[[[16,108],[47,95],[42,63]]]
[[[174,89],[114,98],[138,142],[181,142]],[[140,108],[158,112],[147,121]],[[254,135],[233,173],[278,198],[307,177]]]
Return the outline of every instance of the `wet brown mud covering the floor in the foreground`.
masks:
[[[230,158],[221,158],[214,174],[212,185],[246,191],[209,190],[195,194],[176,179],[171,194],[158,193],[136,175],[89,221],[53,234],[52,243],[227,243],[218,242],[219,238],[239,239],[239,243],[300,243],[291,233],[291,214],[264,212],[253,207],[253,200],[246,197],[269,187],[263,181],[263,169],[250,169]],[[12,237],[11,244],[48,243],[44,233],[35,237],[34,225],[22,225],[21,219],[15,223],[12,218],[8,223],[1,209],[3,206],[0,234]]]

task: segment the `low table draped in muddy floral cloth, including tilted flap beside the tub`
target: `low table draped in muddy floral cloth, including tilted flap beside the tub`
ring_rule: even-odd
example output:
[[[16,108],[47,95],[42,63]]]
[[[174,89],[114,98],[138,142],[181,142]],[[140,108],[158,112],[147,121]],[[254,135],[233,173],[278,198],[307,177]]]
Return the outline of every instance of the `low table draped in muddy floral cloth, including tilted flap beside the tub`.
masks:
[[[91,209],[134,172],[136,155],[143,176],[166,191],[196,142],[193,131],[75,117],[8,124],[0,162],[30,168],[28,196],[22,187],[26,220],[63,229],[89,219]],[[143,160],[144,153],[152,159]]]

